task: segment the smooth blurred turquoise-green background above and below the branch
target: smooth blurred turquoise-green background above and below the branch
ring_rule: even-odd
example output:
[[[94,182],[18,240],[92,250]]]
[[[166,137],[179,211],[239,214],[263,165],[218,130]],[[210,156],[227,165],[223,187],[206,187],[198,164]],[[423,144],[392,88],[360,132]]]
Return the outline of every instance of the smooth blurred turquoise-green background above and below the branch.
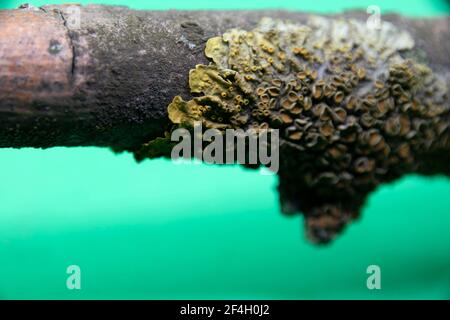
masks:
[[[450,12],[447,1],[99,2]],[[0,149],[0,298],[450,299],[449,179],[409,176],[379,188],[327,247],[304,240],[300,216],[280,214],[276,184],[237,166],[138,165],[108,149]],[[82,271],[78,291],[66,288],[72,264]],[[381,290],[366,288],[372,264]]]

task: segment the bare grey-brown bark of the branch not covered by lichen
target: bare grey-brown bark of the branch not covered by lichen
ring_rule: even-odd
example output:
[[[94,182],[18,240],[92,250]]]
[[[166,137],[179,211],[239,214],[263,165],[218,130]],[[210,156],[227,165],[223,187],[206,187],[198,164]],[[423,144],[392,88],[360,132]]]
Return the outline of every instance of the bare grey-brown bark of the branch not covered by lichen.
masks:
[[[190,98],[188,72],[208,63],[208,38],[251,29],[262,17],[302,22],[308,16],[90,5],[80,7],[77,28],[71,6],[0,11],[0,147],[134,149],[163,134],[174,96]],[[450,78],[448,18],[382,18],[407,29],[416,57]]]

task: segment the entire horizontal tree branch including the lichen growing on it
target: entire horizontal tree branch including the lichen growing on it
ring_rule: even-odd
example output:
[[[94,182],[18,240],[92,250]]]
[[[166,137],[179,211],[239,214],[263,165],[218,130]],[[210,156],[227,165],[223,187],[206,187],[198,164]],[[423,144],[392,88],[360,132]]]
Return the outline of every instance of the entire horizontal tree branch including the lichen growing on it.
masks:
[[[348,12],[333,17],[360,21],[351,25],[360,31],[342,43],[325,34],[350,24],[325,19],[312,40],[327,41],[291,47],[312,15],[76,8],[80,25],[73,5],[0,11],[0,147],[104,146],[140,160],[170,150],[162,137],[195,119],[277,126],[282,210],[302,212],[320,243],[357,218],[379,184],[450,175],[448,17],[383,15],[401,32],[387,27],[370,43],[367,15]],[[359,48],[344,46],[352,37]]]

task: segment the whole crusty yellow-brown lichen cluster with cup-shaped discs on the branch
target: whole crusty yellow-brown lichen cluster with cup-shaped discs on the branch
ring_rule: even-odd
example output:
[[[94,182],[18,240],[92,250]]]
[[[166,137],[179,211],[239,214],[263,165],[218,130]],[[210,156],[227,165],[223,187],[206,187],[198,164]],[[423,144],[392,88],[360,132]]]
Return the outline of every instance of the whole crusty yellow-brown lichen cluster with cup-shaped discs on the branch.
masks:
[[[403,57],[414,42],[384,22],[263,19],[209,39],[212,62],[189,73],[195,97],[168,107],[177,126],[280,129],[280,197],[302,211],[310,239],[328,242],[379,183],[449,149],[447,87]],[[447,132],[444,134],[444,132]]]

